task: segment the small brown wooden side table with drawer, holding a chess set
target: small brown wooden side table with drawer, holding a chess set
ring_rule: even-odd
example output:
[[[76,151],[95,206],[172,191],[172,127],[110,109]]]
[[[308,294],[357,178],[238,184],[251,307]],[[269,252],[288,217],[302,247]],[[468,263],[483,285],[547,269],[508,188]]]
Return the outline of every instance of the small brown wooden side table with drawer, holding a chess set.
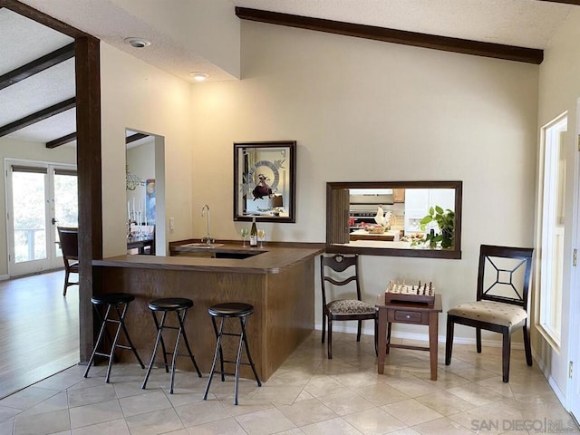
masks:
[[[435,295],[435,301],[432,305],[390,301],[387,304],[376,306],[379,310],[379,348],[377,351],[379,353],[379,374],[384,372],[384,355],[389,353],[391,347],[397,347],[416,351],[429,351],[431,381],[437,381],[439,314],[443,311],[441,308],[441,295]],[[391,324],[393,323],[429,325],[429,347],[391,344]]]

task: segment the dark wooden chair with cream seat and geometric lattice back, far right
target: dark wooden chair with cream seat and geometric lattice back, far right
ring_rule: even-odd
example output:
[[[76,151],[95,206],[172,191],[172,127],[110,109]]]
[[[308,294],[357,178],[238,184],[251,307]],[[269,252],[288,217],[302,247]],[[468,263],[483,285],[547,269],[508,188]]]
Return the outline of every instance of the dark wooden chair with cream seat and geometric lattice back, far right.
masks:
[[[451,363],[455,324],[476,328],[478,353],[481,353],[482,329],[502,334],[503,382],[509,381],[511,333],[519,328],[524,333],[527,365],[532,365],[527,331],[527,295],[533,253],[534,249],[527,247],[480,247],[476,302],[459,304],[447,312],[445,365]]]

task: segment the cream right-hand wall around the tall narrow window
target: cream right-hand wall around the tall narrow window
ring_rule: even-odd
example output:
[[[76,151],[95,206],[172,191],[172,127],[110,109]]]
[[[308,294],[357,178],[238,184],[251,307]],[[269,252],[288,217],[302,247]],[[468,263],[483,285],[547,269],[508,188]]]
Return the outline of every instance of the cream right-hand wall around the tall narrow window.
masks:
[[[577,153],[575,133],[579,130],[576,121],[578,119],[576,101],[580,98],[580,51],[578,50],[578,41],[580,41],[580,10],[574,8],[565,24],[552,37],[549,47],[544,52],[544,62],[540,65],[539,74],[538,128],[546,124],[546,122],[555,119],[564,111],[568,112],[568,134],[565,137],[565,148],[570,150],[571,156],[566,170],[568,174],[566,180],[566,196],[568,197],[565,211],[566,231],[573,225],[572,207],[574,203],[573,194],[575,192],[573,176],[575,154]],[[566,233],[565,240],[565,252],[569,253],[572,247],[575,247],[575,240],[569,233]],[[572,270],[568,262],[565,262],[565,291],[562,306],[566,312],[570,307],[570,292],[577,291],[570,282]],[[575,315],[577,313],[572,314],[572,316]],[[565,318],[567,318],[567,313]],[[541,335],[536,334],[533,336],[535,338],[533,347],[540,357],[540,363],[545,367],[545,371],[556,391],[559,390],[558,392],[564,396],[566,395],[570,342],[577,339],[575,336],[570,337],[567,328],[568,324],[563,323],[562,345],[558,352],[553,350]]]

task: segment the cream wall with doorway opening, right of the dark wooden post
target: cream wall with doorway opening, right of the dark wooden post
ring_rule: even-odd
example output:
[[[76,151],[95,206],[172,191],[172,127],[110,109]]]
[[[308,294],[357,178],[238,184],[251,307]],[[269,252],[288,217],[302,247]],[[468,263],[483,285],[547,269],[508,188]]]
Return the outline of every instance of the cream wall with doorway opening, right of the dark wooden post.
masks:
[[[190,237],[193,145],[189,83],[105,43],[101,44],[101,82],[103,256],[127,251],[126,128],[165,138],[167,216],[176,222],[169,240]]]

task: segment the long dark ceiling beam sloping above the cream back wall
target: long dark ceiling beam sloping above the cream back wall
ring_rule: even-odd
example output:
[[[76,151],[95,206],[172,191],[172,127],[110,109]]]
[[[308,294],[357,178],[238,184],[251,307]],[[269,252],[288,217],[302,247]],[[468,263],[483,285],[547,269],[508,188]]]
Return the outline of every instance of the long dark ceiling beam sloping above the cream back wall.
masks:
[[[473,54],[507,61],[539,64],[544,59],[544,52],[542,50],[504,45],[501,43],[482,43],[435,34],[418,34],[416,32],[387,29],[373,25],[343,23],[340,21],[311,18],[302,15],[281,14],[247,7],[237,7],[236,15],[242,20],[256,21],[259,23],[286,25],[329,34],[343,34],[345,36],[372,39],[385,43],[402,43],[414,47]]]

